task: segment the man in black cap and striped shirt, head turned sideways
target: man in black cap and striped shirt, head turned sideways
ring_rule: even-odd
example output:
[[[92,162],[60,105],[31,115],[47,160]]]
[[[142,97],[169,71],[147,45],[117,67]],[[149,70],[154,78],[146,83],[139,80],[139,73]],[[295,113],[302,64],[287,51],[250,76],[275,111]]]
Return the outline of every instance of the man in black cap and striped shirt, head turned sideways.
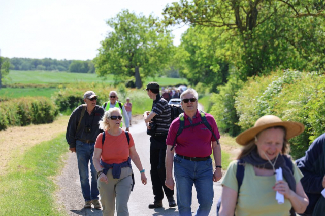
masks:
[[[149,122],[156,124],[154,134],[150,137],[150,176],[154,195],[153,204],[149,208],[163,207],[164,191],[168,199],[169,207],[175,207],[174,191],[165,185],[166,180],[166,138],[169,126],[171,125],[171,109],[168,102],[159,94],[159,84],[149,82],[145,89],[150,99],[153,100],[152,110],[143,114],[148,129],[151,129]]]

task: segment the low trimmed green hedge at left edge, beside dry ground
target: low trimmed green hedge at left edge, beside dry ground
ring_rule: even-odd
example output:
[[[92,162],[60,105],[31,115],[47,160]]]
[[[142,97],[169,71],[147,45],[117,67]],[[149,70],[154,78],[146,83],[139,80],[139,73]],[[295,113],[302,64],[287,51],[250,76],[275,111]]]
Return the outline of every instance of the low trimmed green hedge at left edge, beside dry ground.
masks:
[[[25,126],[53,122],[58,110],[46,97],[25,97],[0,104],[0,130],[9,126]]]

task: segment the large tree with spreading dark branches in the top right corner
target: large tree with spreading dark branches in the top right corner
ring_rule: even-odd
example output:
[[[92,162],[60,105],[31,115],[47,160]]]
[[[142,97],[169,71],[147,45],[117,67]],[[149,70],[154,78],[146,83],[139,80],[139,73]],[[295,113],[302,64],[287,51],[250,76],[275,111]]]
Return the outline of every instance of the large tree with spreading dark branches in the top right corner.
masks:
[[[168,5],[164,16],[169,25],[218,29],[216,53],[245,80],[276,67],[324,68],[324,9],[320,0],[181,0]]]

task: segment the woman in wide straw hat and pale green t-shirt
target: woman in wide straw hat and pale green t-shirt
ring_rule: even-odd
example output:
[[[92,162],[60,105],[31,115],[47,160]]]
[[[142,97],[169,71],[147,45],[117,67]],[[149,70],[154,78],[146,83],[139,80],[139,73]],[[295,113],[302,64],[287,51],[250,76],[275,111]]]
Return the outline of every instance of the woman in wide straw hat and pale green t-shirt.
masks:
[[[290,169],[286,162],[291,163],[286,154],[287,140],[303,131],[301,123],[266,115],[236,138],[244,147],[222,181],[220,215],[295,215],[294,211],[305,211],[309,201],[300,182],[303,175],[296,164]],[[242,165],[243,178],[238,190],[237,168]],[[283,180],[276,181],[274,174],[279,167]],[[278,204],[276,192],[284,195],[283,204]]]

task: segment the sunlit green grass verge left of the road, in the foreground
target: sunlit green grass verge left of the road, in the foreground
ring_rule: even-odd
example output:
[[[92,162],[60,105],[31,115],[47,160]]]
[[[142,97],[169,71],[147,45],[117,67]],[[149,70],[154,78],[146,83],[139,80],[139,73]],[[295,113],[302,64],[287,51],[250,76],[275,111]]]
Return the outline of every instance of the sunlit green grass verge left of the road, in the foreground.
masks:
[[[55,202],[54,177],[68,151],[64,134],[30,148],[9,162],[0,177],[0,215],[66,215]]]

